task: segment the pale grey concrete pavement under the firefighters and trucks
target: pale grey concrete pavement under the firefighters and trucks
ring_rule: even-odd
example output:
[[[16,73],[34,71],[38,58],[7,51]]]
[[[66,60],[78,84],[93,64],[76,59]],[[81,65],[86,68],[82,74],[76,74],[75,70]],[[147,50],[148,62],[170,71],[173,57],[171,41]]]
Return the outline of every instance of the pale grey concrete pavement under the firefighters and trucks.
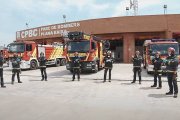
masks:
[[[72,82],[65,67],[47,68],[48,81],[40,71],[23,71],[22,84],[10,84],[11,71],[5,68],[7,88],[0,89],[1,120],[179,120],[180,96],[165,96],[166,77],[161,90],[150,88],[152,75],[143,71],[142,85],[130,84],[132,65],[116,64],[112,82],[102,83],[103,70],[82,74]]]

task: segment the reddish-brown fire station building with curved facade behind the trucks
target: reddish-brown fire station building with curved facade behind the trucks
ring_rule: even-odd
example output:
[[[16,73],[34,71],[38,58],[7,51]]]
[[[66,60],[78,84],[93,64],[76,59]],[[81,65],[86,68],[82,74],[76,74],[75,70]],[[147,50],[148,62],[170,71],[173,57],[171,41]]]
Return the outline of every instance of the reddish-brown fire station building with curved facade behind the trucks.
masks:
[[[68,32],[82,31],[110,41],[116,62],[129,63],[147,39],[174,38],[180,42],[180,14],[125,16],[41,26],[16,32],[16,40],[40,44],[63,42]]]

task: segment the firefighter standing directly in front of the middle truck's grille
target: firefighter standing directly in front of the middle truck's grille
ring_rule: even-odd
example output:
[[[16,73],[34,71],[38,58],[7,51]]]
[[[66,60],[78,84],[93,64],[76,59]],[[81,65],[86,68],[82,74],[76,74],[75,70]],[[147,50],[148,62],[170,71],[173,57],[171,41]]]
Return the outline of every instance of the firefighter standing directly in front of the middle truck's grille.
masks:
[[[72,81],[75,80],[75,75],[77,74],[78,81],[80,81],[80,57],[79,53],[75,52],[74,57],[72,60],[72,67],[73,67],[73,78]]]

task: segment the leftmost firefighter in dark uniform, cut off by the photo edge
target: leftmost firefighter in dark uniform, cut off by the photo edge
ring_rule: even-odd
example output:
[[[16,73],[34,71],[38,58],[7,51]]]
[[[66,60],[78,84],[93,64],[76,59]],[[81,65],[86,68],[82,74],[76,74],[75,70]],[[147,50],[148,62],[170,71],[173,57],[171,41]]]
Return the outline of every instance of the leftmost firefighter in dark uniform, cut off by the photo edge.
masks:
[[[1,87],[5,88],[4,86],[4,78],[3,78],[3,64],[4,64],[4,58],[2,56],[2,53],[0,52],[0,77],[1,77]]]

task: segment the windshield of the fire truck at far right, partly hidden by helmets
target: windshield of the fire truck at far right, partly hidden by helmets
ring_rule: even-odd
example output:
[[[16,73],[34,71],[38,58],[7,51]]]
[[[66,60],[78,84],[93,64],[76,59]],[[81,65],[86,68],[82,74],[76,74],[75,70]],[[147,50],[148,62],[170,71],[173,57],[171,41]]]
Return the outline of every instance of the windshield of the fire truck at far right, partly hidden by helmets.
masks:
[[[154,55],[157,51],[161,52],[161,55],[168,55],[168,48],[172,47],[176,50],[176,54],[179,54],[179,45],[178,44],[152,44],[150,49],[152,51],[151,55]]]

